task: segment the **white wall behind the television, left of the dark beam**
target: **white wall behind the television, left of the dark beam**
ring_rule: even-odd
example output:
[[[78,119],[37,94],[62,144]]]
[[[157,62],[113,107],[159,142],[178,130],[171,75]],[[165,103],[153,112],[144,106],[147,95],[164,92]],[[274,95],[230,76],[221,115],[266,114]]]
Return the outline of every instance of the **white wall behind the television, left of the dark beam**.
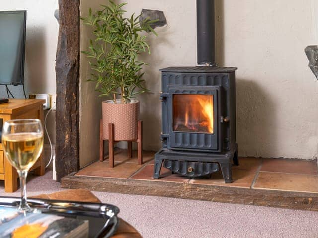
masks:
[[[2,0],[0,11],[27,10],[25,91],[56,93],[55,60],[59,24],[54,17],[58,0]],[[24,98],[22,86],[9,86],[16,98]],[[0,97],[7,97],[0,86]],[[48,116],[48,131],[55,143],[55,111]],[[45,143],[48,143],[45,140]]]

